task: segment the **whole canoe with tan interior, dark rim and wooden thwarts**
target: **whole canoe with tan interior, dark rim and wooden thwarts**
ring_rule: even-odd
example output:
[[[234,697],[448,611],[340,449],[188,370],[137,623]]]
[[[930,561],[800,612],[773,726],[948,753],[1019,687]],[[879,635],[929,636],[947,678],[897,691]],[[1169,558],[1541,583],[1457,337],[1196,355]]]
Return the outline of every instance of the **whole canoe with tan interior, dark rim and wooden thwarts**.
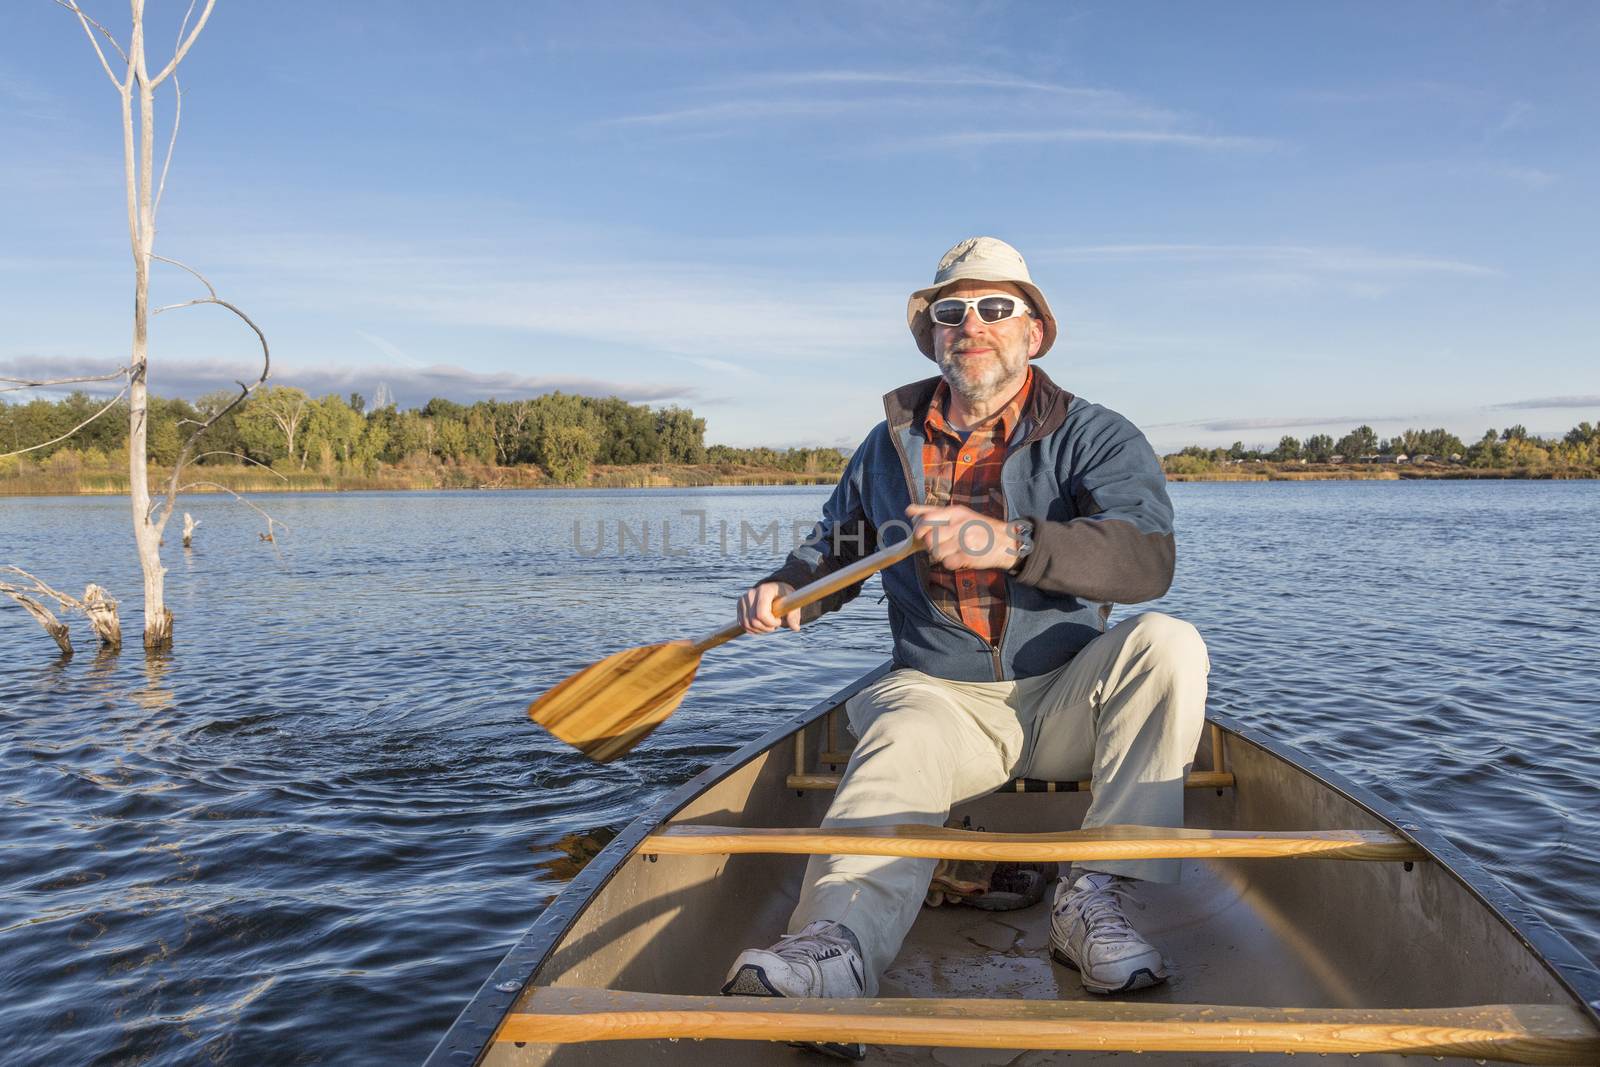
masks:
[[[848,760],[843,702],[888,664],[707,768],[539,915],[429,1067],[1256,1064],[1294,1053],[1600,1064],[1600,969],[1459,849],[1290,747],[1213,717],[1186,825],[1082,830],[1088,782],[1013,782],[970,830],[818,832]],[[806,853],[1181,856],[1134,925],[1173,977],[1090,997],[1051,963],[1048,899],[923,909],[874,1000],[715,997],[784,933]],[[1024,1051],[1034,1049],[1034,1051]]]

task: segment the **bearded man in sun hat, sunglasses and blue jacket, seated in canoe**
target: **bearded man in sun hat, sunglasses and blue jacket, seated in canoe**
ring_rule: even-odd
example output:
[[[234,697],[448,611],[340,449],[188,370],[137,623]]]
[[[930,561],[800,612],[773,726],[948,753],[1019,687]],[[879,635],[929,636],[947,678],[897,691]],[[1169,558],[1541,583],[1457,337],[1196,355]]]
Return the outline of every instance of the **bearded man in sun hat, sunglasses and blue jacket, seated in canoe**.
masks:
[[[1205,643],[1157,613],[1106,629],[1112,603],[1154,600],[1173,579],[1160,461],[1131,422],[1032,366],[1056,318],[1005,242],[946,253],[906,317],[939,376],[883,398],[888,418],[851,454],[810,541],[739,600],[746,630],[798,630],[859,585],[782,619],[781,595],[880,536],[910,530],[926,545],[883,571],[896,669],[846,705],[859,741],[822,825],[942,825],[954,803],[1011,777],[1091,779],[1085,827],[1182,825]],[[813,857],[789,934],[741,953],[723,992],[874,995],[933,869]],[[1054,891],[1051,955],[1093,993],[1165,981],[1122,896],[1131,880],[1176,878],[1176,859],[1077,865]]]

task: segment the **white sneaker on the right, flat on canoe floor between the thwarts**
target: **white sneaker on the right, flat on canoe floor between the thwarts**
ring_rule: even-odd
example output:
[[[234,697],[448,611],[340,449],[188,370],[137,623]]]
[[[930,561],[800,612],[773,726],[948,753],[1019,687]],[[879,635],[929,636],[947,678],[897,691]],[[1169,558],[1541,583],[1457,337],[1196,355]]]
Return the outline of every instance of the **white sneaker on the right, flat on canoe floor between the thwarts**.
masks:
[[[1078,971],[1091,993],[1126,993],[1166,981],[1162,953],[1128,925],[1122,896],[1131,878],[1099,872],[1056,885],[1050,955]]]

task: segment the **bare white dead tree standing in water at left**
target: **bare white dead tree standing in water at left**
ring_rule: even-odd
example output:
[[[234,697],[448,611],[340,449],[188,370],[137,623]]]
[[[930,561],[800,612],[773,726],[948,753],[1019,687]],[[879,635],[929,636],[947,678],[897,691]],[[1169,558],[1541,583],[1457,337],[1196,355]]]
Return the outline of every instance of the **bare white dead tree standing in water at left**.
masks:
[[[83,27],[83,34],[90,40],[90,46],[94,50],[94,56],[99,59],[101,69],[106,72],[106,77],[117,90],[122,101],[123,178],[128,203],[128,238],[133,248],[134,296],[133,350],[128,366],[120,373],[125,373],[128,378],[128,386],[125,389],[128,397],[128,493],[133,506],[133,536],[139,550],[139,566],[144,571],[144,646],[146,649],[155,651],[170,646],[173,640],[173,613],[166,608],[166,568],[162,566],[160,547],[162,533],[166,528],[166,522],[173,515],[178,494],[186,486],[184,467],[195,459],[200,437],[211,429],[218,419],[243,403],[254,389],[259,389],[267,381],[272,370],[272,354],[267,347],[266,334],[262,334],[256,323],[251,322],[250,315],[242,312],[234,304],[218,298],[216,290],[203,275],[200,275],[200,272],[178,262],[176,259],[155,254],[155,216],[162,203],[162,195],[166,190],[166,173],[173,163],[173,149],[178,146],[178,126],[182,118],[182,86],[178,82],[178,66],[182,62],[184,56],[189,54],[189,50],[200,37],[200,30],[205,29],[206,21],[211,18],[211,10],[216,6],[216,0],[205,0],[205,6],[200,10],[198,18],[195,18],[195,6],[198,0],[190,0],[189,10],[184,13],[184,19],[178,29],[178,43],[173,50],[173,58],[154,75],[150,74],[147,64],[144,43],[146,0],[130,0],[133,22],[126,46],[123,46],[117,37],[106,29],[106,26],[85,13],[83,8],[78,6],[78,0],[56,0],[56,3],[77,16],[78,24]],[[115,53],[120,61],[120,70],[112,66],[102,42],[110,46],[112,53]],[[157,178],[155,91],[168,78],[173,82],[173,128]],[[150,267],[155,262],[171,264],[189,272],[200,282],[200,285],[205,286],[206,296],[184,301],[181,304],[168,304],[152,310]],[[195,424],[194,430],[179,448],[178,461],[173,464],[165,491],[160,498],[152,499],[147,448],[149,322],[152,315],[202,304],[216,304],[218,307],[232,312],[246,326],[250,326],[250,330],[256,334],[256,339],[261,342],[261,374],[254,382],[238,382],[240,392],[234,397],[232,403],[211,411],[206,419]],[[14,384],[34,386],[35,382]],[[109,408],[110,405],[107,405],[107,410]],[[270,522],[267,531],[272,531]]]

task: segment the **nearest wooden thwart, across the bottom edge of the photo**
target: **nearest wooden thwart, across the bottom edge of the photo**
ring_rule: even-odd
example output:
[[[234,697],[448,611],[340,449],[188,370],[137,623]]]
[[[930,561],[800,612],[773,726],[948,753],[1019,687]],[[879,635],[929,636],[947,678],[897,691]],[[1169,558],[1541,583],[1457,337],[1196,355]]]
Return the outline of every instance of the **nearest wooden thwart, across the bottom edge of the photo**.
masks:
[[[496,1041],[659,1038],[1149,1053],[1402,1053],[1582,1064],[1600,1032],[1574,1006],[1237,1008],[1067,1000],[787,1000],[534,989]]]

